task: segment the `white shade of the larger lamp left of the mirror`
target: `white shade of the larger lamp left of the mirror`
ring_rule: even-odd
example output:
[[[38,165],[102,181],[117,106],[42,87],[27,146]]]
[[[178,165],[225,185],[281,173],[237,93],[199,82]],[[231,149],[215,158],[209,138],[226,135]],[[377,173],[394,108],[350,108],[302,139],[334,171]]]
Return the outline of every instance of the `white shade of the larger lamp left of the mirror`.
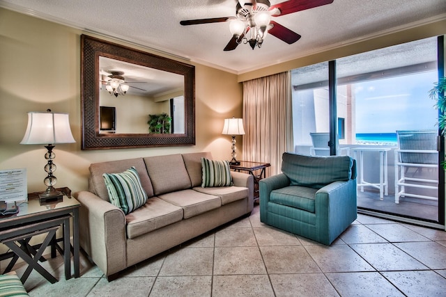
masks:
[[[28,113],[28,127],[20,144],[50,145],[75,142],[71,134],[68,113],[36,111]]]

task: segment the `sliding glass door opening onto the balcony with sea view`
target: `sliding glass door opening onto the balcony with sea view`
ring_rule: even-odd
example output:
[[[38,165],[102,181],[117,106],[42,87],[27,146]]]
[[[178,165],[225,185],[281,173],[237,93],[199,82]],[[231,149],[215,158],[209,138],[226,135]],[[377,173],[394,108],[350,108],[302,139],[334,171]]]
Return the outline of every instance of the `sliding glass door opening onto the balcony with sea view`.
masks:
[[[314,134],[326,139],[334,128],[336,154],[357,160],[362,211],[444,224],[443,154],[437,150],[443,140],[428,96],[438,80],[437,39],[340,58],[336,83],[328,80],[328,63],[292,72],[295,152],[327,155],[314,149]]]

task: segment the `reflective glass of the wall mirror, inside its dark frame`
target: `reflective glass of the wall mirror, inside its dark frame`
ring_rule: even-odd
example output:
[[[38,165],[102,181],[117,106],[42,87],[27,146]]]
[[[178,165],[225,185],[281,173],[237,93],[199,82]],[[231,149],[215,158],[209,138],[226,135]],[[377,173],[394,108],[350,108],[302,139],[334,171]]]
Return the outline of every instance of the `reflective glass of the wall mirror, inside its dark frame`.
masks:
[[[185,134],[184,76],[99,56],[100,134]]]

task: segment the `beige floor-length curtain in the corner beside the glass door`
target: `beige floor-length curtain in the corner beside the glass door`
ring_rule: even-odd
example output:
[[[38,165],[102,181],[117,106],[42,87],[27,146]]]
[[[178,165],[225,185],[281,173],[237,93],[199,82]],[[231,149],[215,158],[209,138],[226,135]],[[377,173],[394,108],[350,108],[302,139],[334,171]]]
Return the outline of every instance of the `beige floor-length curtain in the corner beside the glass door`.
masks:
[[[280,173],[282,154],[293,152],[291,72],[243,82],[243,122],[243,159]]]

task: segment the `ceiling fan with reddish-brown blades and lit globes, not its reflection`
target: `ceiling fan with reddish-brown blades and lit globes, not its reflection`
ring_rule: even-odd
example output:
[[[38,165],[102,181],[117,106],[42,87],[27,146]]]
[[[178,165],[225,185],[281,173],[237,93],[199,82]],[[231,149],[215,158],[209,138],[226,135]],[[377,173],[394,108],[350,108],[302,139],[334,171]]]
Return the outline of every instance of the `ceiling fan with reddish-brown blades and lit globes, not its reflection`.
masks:
[[[288,0],[270,5],[268,0],[238,0],[236,17],[215,17],[210,19],[190,19],[181,21],[183,26],[210,24],[230,21],[229,30],[233,34],[224,51],[236,49],[240,43],[249,43],[254,49],[261,47],[266,33],[291,45],[300,39],[300,35],[290,29],[270,20],[290,13],[307,10],[332,3],[334,0]],[[246,37],[249,33],[249,39]]]

